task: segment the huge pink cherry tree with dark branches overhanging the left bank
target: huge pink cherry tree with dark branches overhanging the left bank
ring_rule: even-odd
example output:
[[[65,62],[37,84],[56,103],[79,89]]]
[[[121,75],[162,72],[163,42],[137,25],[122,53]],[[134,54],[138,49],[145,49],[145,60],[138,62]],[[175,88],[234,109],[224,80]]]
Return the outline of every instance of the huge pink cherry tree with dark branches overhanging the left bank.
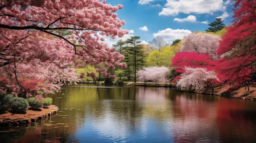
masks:
[[[115,13],[121,8],[106,0],[2,0],[0,89],[31,96],[78,81],[75,67],[103,63],[110,70],[125,68],[120,63],[124,56],[99,42],[104,41],[102,35],[128,33]],[[106,68],[97,72],[115,78]]]

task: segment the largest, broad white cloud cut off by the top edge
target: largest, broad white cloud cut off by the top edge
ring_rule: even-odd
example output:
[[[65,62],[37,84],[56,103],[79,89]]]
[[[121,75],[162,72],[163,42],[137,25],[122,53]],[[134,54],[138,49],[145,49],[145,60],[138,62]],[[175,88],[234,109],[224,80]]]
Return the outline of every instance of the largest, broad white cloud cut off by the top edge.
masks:
[[[210,13],[223,10],[222,0],[167,0],[159,15],[177,15],[179,13]]]

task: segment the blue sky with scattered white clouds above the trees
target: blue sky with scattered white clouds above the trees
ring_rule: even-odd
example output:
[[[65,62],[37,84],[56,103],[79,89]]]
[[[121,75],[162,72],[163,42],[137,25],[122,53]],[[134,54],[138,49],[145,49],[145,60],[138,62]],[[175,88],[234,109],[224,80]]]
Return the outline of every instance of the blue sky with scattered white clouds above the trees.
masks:
[[[205,31],[215,18],[222,18],[226,26],[232,22],[233,0],[106,0],[111,5],[122,4],[117,17],[125,20],[122,29],[130,32],[121,39],[140,36],[144,44],[160,35],[171,44],[194,31]],[[110,47],[114,40],[104,37]]]

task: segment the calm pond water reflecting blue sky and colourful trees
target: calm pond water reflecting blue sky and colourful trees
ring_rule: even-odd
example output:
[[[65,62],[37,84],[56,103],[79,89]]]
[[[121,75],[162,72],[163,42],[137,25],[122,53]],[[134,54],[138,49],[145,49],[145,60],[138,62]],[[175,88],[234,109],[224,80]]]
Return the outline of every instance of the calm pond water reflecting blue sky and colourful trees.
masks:
[[[67,86],[59,113],[0,132],[0,143],[249,143],[256,101],[135,86]],[[1,129],[0,129],[1,130]]]

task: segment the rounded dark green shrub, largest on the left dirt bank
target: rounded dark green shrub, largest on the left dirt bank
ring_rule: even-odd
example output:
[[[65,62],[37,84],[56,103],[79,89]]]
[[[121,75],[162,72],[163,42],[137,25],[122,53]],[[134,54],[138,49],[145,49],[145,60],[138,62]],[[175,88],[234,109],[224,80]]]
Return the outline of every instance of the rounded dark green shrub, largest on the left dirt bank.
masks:
[[[10,100],[10,107],[13,112],[26,112],[29,107],[29,103],[22,97],[12,97]]]

